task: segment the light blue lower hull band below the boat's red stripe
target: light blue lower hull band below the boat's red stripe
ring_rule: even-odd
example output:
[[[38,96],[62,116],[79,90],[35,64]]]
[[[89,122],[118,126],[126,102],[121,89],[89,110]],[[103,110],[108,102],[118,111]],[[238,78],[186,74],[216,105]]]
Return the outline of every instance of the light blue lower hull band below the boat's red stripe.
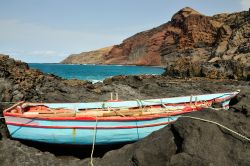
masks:
[[[133,129],[105,129],[96,131],[96,144],[134,142],[165,125]],[[94,131],[89,129],[44,129],[8,125],[11,136],[17,139],[54,143],[91,145]]]

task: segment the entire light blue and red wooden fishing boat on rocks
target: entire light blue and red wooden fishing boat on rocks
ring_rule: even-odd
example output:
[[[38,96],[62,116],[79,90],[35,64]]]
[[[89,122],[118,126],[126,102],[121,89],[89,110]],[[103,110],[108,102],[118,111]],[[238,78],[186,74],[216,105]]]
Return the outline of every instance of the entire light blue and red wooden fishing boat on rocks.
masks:
[[[183,114],[220,103],[224,109],[239,91],[196,96],[93,103],[19,102],[3,114],[14,139],[53,144],[133,142]],[[94,138],[94,139],[93,139]]]

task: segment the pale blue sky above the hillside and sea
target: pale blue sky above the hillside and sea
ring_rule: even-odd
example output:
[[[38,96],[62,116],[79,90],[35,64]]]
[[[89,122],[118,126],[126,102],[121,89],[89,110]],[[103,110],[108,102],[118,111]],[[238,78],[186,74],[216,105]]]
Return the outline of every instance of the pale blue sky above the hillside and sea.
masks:
[[[0,53],[28,63],[120,44],[184,7],[202,14],[248,10],[250,0],[0,0]]]

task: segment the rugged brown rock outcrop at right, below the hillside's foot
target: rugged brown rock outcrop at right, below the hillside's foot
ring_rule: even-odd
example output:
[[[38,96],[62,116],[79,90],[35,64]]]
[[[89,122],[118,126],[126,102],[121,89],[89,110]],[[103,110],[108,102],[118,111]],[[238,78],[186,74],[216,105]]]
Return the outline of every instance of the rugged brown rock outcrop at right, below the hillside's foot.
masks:
[[[206,77],[210,79],[250,80],[250,66],[234,60],[215,62],[192,62],[189,58],[180,58],[166,68],[163,75],[172,77]]]

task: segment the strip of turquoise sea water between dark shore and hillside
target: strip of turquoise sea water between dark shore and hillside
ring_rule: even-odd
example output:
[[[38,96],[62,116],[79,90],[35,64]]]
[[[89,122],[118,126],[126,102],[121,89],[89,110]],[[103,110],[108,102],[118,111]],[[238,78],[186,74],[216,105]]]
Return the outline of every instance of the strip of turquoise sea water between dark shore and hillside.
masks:
[[[29,63],[30,68],[39,69],[66,79],[102,81],[116,75],[153,74],[164,72],[160,67],[148,66],[120,66],[120,65],[68,65],[68,64],[41,64]]]

